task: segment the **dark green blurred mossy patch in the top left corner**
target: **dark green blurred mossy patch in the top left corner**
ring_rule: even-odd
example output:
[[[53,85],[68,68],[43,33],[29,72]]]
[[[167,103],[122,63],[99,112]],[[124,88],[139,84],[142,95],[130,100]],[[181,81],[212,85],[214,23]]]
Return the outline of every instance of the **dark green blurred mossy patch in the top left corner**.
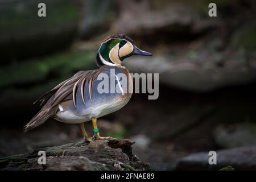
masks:
[[[68,0],[47,0],[46,17],[38,17],[38,4],[41,1],[11,2],[3,4],[0,9],[0,31],[22,32],[46,28],[48,26],[67,25],[77,23],[79,13],[76,7]]]

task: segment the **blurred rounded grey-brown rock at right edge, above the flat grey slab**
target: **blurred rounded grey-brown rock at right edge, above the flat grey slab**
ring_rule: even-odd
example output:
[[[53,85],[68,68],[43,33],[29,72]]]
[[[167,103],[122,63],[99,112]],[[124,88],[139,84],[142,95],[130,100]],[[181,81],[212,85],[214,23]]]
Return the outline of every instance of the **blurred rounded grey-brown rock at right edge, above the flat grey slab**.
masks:
[[[214,130],[214,140],[223,148],[256,145],[256,124],[250,122],[220,124]]]

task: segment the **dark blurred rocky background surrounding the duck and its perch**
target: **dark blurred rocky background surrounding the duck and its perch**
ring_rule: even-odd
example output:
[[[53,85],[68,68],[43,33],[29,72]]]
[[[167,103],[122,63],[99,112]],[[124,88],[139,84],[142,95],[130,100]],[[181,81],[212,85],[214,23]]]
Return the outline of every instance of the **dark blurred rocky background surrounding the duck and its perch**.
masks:
[[[217,17],[208,16],[210,2]],[[207,169],[197,152],[211,150],[222,151],[222,167],[256,169],[255,5],[0,0],[0,157],[82,139],[79,126],[53,119],[25,134],[23,126],[39,111],[32,104],[39,96],[96,68],[102,40],[122,33],[153,53],[123,64],[131,73],[159,73],[159,98],[134,94],[123,109],[99,119],[101,135],[134,140],[134,153],[152,169],[189,169],[195,162]],[[92,135],[90,122],[86,129]]]

